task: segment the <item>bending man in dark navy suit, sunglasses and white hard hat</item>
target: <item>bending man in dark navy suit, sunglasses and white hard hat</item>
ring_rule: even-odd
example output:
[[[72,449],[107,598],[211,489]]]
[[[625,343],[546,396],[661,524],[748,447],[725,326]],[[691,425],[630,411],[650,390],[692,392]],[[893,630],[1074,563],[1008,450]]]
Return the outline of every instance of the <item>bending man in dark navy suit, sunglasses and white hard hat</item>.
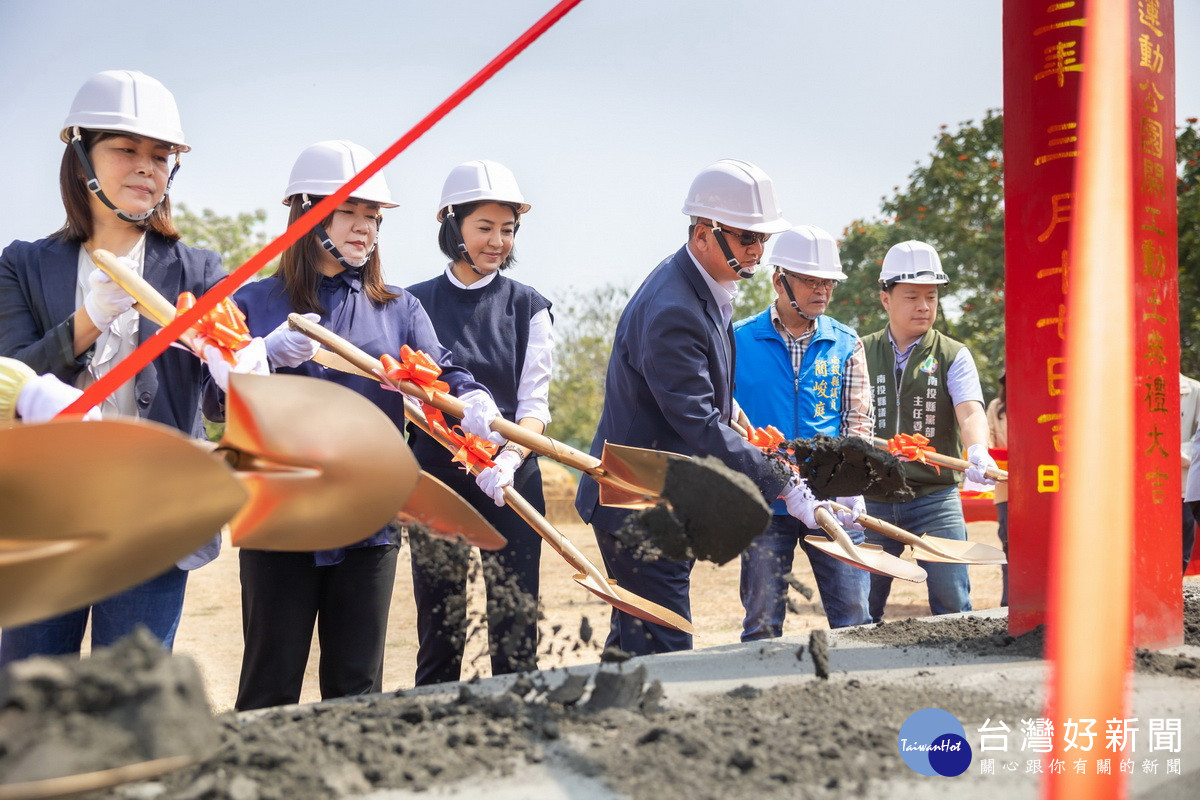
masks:
[[[691,218],[688,243],[650,272],[617,323],[592,453],[599,457],[612,441],[714,456],[754,480],[768,500],[782,492],[788,510],[811,522],[808,488],[785,482],[728,425],[737,282],[754,275],[767,239],[790,227],[774,186],[754,164],[719,161],[692,181],[683,212]],[[690,619],[691,561],[643,560],[623,549],[613,534],[631,512],[601,506],[587,475],[575,507],[592,523],[611,578]],[[644,655],[690,649],[691,636],[613,610],[607,643]]]

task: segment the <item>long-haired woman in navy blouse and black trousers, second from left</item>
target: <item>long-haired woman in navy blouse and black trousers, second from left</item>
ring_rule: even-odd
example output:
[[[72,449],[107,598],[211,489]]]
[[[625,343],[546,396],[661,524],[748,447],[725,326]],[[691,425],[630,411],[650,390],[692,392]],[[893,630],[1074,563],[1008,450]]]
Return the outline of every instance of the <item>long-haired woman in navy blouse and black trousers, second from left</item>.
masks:
[[[373,160],[353,142],[318,142],[306,148],[283,193],[284,205],[292,206],[288,224]],[[442,366],[451,392],[468,403],[463,427],[487,435],[487,426],[498,414],[487,390],[450,360],[416,299],[384,283],[377,247],[380,209],[395,205],[383,175],[371,178],[284,251],[275,275],[242,287],[234,300],[254,335],[286,324],[288,314],[296,312],[319,320],[371,355],[396,356],[404,344],[424,350]],[[402,396],[368,378],[325,369],[310,360],[316,351],[316,343],[293,333],[287,362],[277,372],[342,384],[403,427]],[[223,419],[221,399],[216,392],[206,392],[210,416]],[[491,435],[503,441],[498,434]],[[397,549],[388,528],[349,547],[316,553],[242,548],[245,651],[235,708],[245,711],[299,702],[313,627],[320,642],[323,699],[382,691]]]

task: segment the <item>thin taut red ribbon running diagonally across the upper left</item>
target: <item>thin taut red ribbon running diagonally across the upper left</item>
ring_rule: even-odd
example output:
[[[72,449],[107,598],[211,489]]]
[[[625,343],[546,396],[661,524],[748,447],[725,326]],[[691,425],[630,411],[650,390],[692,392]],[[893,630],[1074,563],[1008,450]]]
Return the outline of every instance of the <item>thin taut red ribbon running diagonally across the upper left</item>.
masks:
[[[212,308],[216,308],[217,303],[236,291],[242,283],[248,281],[256,272],[266,266],[268,261],[294,245],[301,236],[312,230],[318,222],[332,213],[338,205],[344,203],[354,193],[354,190],[362,186],[362,184],[365,184],[371,176],[383,169],[388,162],[421,138],[421,136],[437,125],[443,116],[454,110],[455,107],[462,103],[462,101],[469,97],[476,89],[487,83],[492,76],[499,72],[505,65],[509,64],[509,61],[515,59],[542,34],[550,30],[566,14],[566,12],[580,5],[580,2],[582,2],[582,0],[562,0],[562,2],[551,8],[541,19],[535,22],[524,34],[509,44],[504,52],[492,59],[482,70],[472,76],[467,83],[450,95],[450,97],[443,101],[437,108],[421,119],[420,122],[413,126],[408,133],[397,139],[374,161],[367,164],[361,173],[352,178],[340,190],[310,209],[302,217],[292,223],[287,230],[280,234],[277,239],[266,245],[266,247],[256,253],[245,264],[226,276],[202,297],[197,299],[196,306],[193,306],[190,311],[179,314],[169,325],[160,329],[154,336],[143,342],[126,359],[114,366],[108,373],[102,375],[100,380],[89,386],[71,405],[62,409],[61,414],[72,415],[86,413],[86,410],[92,405],[97,405],[116,391],[121,384],[137,375],[138,372],[144,369],[151,361],[158,357],[163,350],[170,347],[172,342],[178,339],[184,331],[194,325],[200,317],[206,314]]]

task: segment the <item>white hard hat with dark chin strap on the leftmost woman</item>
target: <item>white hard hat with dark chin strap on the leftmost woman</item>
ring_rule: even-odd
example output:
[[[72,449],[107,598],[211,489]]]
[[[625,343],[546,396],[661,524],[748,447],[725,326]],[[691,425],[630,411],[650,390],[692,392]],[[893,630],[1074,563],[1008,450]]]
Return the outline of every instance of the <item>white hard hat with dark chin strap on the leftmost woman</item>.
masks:
[[[92,169],[91,160],[83,146],[82,131],[107,131],[113,133],[130,133],[133,136],[157,139],[172,145],[175,150],[175,166],[167,178],[167,187],[162,193],[166,198],[170,192],[172,181],[179,172],[179,154],[187,152],[191,148],[184,140],[184,128],[179,121],[179,107],[175,106],[175,96],[166,86],[150,76],[132,70],[106,70],[97,72],[84,82],[79,91],[76,92],[74,101],[67,119],[62,122],[59,138],[70,144],[79,163],[83,167],[84,176],[88,180],[88,190],[95,194],[101,203],[116,212],[116,216],[126,222],[142,222],[146,219],[154,209],[142,213],[130,213],[118,209],[104,196],[96,180],[96,172]],[[162,203],[162,199],[158,200]],[[155,206],[157,207],[157,205]]]

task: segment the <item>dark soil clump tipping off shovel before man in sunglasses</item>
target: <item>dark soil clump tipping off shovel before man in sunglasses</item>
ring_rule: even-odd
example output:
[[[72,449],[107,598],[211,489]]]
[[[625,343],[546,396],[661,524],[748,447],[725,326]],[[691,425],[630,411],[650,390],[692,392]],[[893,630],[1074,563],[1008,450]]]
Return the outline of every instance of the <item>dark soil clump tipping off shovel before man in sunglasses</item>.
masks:
[[[662,495],[668,503],[630,515],[616,534],[638,558],[725,564],[770,522],[754,481],[709,456],[670,462]]]

